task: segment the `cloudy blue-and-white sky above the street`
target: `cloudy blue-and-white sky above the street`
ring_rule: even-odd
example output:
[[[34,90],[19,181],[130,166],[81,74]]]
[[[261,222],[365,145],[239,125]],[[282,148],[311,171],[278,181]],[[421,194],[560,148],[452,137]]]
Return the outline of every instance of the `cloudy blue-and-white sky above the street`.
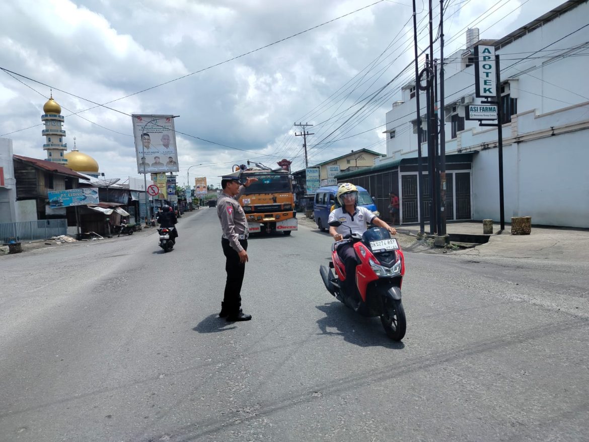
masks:
[[[501,38],[562,2],[444,0],[444,53],[465,46],[467,28]],[[422,51],[428,2],[416,4]],[[121,182],[141,177],[131,114],[178,116],[178,184],[219,184],[247,160],[303,169],[295,123],[313,125],[309,166],[351,150],[386,153],[385,113],[415,72],[405,70],[411,0],[19,0],[2,9],[0,137],[15,154],[47,157],[41,115],[52,89],[68,150],[76,137]]]

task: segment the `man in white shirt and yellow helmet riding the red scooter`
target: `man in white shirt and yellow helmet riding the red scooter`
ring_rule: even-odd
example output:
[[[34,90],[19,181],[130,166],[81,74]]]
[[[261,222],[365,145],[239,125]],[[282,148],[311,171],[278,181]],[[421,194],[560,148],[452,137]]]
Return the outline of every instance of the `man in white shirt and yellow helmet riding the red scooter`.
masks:
[[[343,240],[343,235],[349,234],[352,228],[352,233],[366,232],[366,223],[372,222],[373,225],[384,227],[391,233],[396,235],[397,230],[395,227],[389,226],[366,207],[358,206],[358,189],[352,183],[342,183],[337,189],[336,193],[336,204],[337,207],[329,214],[329,221],[332,222],[339,220],[343,224],[338,227],[329,226],[329,235],[333,236],[333,239],[337,241]],[[351,242],[345,242],[337,246],[337,255],[342,259],[346,267],[346,279],[342,281],[343,290],[352,299],[356,301],[360,298],[360,293],[356,287],[356,252]]]

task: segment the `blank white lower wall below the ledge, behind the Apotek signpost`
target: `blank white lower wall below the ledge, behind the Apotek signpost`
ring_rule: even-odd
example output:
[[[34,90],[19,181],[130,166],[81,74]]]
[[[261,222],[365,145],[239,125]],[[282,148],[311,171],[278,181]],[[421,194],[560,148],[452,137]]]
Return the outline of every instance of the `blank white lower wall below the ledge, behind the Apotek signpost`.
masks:
[[[537,225],[589,227],[588,139],[589,129],[504,147],[505,221],[531,216]],[[566,154],[555,149],[562,143]],[[474,218],[498,222],[497,150],[477,153],[472,165]]]

